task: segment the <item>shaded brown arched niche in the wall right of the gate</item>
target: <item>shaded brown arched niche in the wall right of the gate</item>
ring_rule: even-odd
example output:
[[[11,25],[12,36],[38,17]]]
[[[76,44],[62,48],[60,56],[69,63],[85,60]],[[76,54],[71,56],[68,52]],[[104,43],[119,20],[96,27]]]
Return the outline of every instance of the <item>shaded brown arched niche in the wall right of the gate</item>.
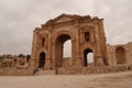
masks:
[[[117,64],[121,65],[121,64],[125,64],[125,51],[123,47],[117,47],[116,48],[116,58],[117,58]]]

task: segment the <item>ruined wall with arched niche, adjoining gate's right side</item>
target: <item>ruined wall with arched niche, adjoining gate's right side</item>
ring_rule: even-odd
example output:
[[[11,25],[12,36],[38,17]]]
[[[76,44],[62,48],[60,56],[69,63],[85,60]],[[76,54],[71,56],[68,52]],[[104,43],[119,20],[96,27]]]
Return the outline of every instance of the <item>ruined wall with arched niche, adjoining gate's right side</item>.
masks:
[[[107,52],[108,52],[108,61],[110,66],[132,65],[132,42],[128,44],[119,44],[119,45],[108,44]],[[119,56],[118,53],[120,53]]]

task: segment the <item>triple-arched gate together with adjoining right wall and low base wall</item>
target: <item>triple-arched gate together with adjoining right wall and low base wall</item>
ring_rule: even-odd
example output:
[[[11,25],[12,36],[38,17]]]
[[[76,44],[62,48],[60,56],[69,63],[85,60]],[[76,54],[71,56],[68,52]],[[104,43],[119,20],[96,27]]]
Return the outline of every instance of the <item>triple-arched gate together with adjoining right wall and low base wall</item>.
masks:
[[[64,57],[64,43],[72,41],[72,57]],[[132,42],[106,44],[103,19],[61,14],[33,32],[28,69],[15,75],[90,74],[132,69]],[[89,53],[92,63],[89,64]],[[10,74],[9,74],[10,75]]]

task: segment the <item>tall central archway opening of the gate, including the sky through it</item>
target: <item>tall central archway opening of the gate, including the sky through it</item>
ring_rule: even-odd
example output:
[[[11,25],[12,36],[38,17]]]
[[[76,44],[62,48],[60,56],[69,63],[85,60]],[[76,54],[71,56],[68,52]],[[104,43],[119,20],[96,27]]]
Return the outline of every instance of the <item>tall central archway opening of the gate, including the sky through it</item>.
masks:
[[[72,38],[68,34],[62,34],[56,38],[55,66],[62,67],[68,56],[72,56]]]

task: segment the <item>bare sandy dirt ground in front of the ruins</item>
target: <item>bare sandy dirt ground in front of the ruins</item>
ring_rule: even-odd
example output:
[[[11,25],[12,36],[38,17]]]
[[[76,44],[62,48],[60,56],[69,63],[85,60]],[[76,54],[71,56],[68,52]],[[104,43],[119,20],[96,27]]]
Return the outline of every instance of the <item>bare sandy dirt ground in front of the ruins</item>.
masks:
[[[132,72],[92,75],[0,76],[0,88],[132,88]]]

